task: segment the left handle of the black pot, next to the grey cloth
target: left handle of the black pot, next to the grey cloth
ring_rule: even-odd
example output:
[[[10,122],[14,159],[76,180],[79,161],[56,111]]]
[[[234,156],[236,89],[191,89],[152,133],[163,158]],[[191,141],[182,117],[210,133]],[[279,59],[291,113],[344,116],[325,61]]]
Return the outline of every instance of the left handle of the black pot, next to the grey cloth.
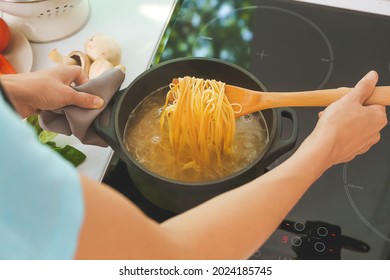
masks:
[[[114,113],[116,110],[114,110],[114,108],[117,107],[118,100],[124,92],[125,89],[118,91],[94,121],[96,133],[102,137],[114,151],[120,149],[120,144],[115,133]]]

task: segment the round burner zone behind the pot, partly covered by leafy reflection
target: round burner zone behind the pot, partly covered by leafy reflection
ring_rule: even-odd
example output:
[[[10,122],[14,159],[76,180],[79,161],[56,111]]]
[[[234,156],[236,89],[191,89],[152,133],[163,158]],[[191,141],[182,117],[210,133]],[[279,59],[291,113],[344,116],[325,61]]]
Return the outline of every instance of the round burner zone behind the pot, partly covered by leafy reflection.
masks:
[[[255,22],[242,19],[248,13],[259,14]],[[222,47],[214,42],[217,35],[213,36],[213,30],[221,26],[233,38],[230,42],[225,38]],[[237,44],[237,36],[244,44]],[[265,40],[253,39],[256,36]],[[203,25],[192,48],[193,56],[217,57],[233,63],[241,62],[241,56],[251,56],[251,61],[257,62],[241,66],[250,69],[272,91],[321,89],[330,79],[334,65],[331,43],[314,22],[299,13],[271,6],[227,10]],[[306,87],[302,88],[302,84]]]

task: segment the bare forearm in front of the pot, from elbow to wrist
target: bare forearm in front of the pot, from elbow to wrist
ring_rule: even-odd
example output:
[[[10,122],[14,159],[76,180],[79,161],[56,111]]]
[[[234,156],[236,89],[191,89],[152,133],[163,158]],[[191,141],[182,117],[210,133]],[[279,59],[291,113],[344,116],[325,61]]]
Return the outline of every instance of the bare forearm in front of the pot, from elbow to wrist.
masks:
[[[248,258],[329,167],[326,155],[330,147],[318,149],[321,140],[316,137],[309,137],[274,170],[166,221],[163,226],[187,244],[190,258]]]

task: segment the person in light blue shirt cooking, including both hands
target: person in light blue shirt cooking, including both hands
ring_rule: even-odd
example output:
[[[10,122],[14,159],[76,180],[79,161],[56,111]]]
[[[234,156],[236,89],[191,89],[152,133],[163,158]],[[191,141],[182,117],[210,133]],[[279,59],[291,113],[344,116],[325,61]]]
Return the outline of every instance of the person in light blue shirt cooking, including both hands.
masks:
[[[158,224],[112,188],[77,174],[12,112],[11,106],[21,117],[70,104],[102,106],[99,98],[69,86],[87,81],[80,68],[0,80],[7,92],[0,99],[0,257],[5,259],[246,259],[315,180],[332,165],[368,151],[387,124],[384,106],[363,105],[378,81],[371,71],[320,113],[313,132],[283,164]]]

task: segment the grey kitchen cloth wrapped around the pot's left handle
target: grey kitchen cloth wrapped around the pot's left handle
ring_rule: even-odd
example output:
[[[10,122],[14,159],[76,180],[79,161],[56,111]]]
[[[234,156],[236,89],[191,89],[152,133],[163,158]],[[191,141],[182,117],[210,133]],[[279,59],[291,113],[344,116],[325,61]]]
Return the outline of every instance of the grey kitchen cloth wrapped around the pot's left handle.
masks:
[[[39,124],[45,130],[74,135],[81,143],[107,147],[108,144],[97,133],[93,126],[96,117],[104,110],[114,94],[119,90],[125,74],[120,69],[110,69],[85,84],[75,86],[76,91],[100,96],[104,106],[99,109],[85,109],[69,105],[53,111],[41,111]]]

